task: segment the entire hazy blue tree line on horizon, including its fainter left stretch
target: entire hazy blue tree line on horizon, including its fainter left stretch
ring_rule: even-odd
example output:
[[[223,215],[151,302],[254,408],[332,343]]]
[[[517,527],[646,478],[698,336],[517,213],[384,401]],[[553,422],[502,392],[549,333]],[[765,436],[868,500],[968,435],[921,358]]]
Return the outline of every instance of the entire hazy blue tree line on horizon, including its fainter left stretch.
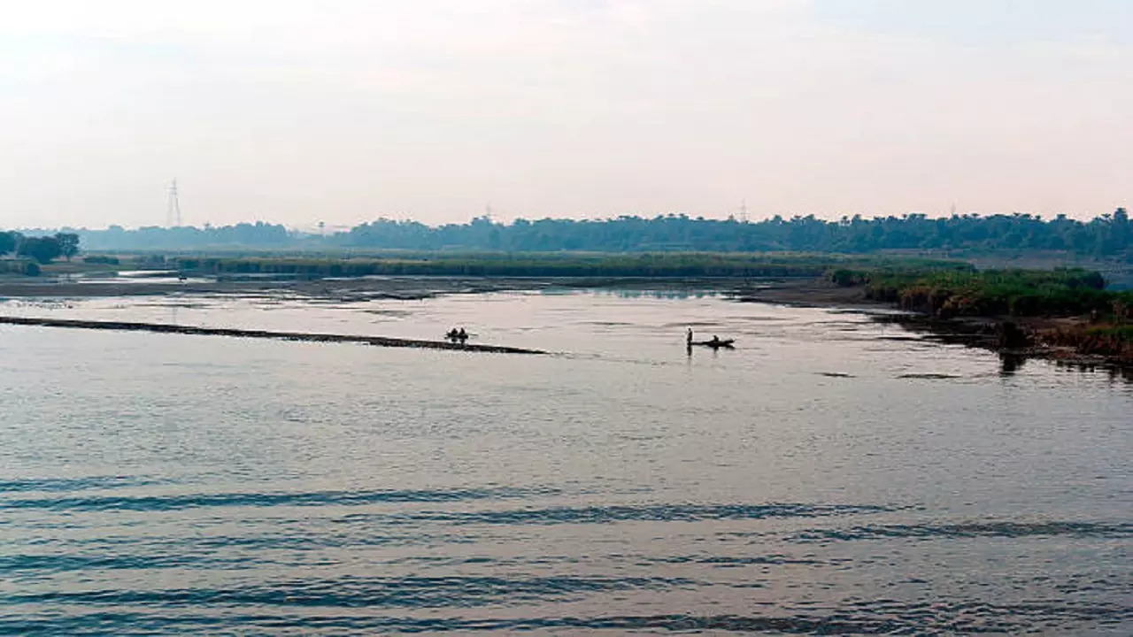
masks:
[[[606,220],[540,219],[499,223],[477,218],[438,227],[377,219],[321,236],[264,222],[205,228],[140,228],[77,231],[88,249],[412,249],[499,252],[829,252],[1062,250],[1133,262],[1133,227],[1125,209],[1089,221],[1059,214],[926,214],[836,221],[813,215],[747,222],[684,214]]]

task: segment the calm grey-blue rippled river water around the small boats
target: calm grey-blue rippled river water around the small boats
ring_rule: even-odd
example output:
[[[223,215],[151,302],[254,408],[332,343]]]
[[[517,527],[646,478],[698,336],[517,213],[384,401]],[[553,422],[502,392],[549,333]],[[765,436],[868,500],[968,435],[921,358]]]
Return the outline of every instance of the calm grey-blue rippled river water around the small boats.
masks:
[[[1104,372],[712,295],[0,313],[555,353],[0,326],[3,634],[1133,632]]]

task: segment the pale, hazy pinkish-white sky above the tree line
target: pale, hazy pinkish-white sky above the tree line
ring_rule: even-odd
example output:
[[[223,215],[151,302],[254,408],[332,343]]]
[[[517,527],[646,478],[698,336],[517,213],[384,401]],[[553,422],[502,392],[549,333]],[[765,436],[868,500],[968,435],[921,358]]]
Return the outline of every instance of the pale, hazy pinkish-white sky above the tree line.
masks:
[[[1131,0],[88,0],[0,19],[0,227],[1133,203]]]

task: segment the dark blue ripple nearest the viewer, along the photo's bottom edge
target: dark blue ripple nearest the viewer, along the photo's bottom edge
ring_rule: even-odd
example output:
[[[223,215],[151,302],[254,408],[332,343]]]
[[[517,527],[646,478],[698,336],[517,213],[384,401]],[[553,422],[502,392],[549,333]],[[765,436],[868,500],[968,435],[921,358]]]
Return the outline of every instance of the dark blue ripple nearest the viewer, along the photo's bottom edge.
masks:
[[[868,606],[868,608],[867,608]],[[869,610],[869,609],[874,610]],[[87,612],[78,615],[0,618],[0,631],[16,634],[150,634],[176,629],[185,632],[240,626],[241,629],[301,629],[368,632],[521,632],[533,630],[606,630],[665,632],[732,632],[782,635],[956,635],[986,632],[1059,632],[1091,626],[1091,634],[1108,627],[1114,635],[1133,620],[1133,611],[1115,604],[1087,604],[1056,600],[1020,604],[983,602],[893,603],[887,600],[835,605],[810,612],[782,614],[611,614],[603,617],[535,617],[523,619],[462,617],[387,617],[381,614],[296,615],[281,612],[215,615],[169,615],[137,611]]]

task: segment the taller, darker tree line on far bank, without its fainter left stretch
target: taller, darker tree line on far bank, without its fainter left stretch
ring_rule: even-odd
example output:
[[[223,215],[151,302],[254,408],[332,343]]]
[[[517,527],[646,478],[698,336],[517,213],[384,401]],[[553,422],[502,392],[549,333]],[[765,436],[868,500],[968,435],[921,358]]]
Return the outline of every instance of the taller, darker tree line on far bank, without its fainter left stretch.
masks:
[[[505,252],[833,252],[879,250],[1068,250],[1099,257],[1133,257],[1133,228],[1125,209],[1088,222],[1058,215],[974,214],[930,219],[925,214],[825,221],[813,215],[740,222],[735,219],[619,216],[604,221],[488,219],[431,228],[380,219],[331,238],[344,247],[438,249],[465,247]]]

